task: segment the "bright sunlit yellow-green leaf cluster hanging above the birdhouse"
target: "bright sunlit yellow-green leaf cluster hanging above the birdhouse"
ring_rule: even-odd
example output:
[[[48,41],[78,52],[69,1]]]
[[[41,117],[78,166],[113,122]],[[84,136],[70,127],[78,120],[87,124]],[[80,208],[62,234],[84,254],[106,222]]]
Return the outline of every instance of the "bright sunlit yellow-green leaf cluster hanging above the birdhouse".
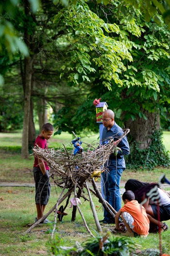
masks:
[[[70,53],[74,67],[69,79],[77,84],[81,79],[89,82],[90,73],[99,70],[102,84],[109,90],[112,80],[122,86],[118,75],[126,70],[122,60],[133,59],[130,54],[132,45],[128,40],[122,40],[126,35],[120,31],[119,26],[116,23],[105,23],[83,1],[78,1],[76,5],[70,5],[64,12],[58,13],[54,22],[59,20],[68,27],[69,37],[74,38],[72,45],[75,50]],[[107,33],[120,35],[122,41],[109,37]]]

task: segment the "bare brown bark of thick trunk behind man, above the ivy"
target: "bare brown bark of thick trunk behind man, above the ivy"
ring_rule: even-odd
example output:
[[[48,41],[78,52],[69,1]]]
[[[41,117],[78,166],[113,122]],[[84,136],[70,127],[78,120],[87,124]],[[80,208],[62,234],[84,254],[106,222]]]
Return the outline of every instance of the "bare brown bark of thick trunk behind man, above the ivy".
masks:
[[[134,121],[129,119],[125,122],[125,127],[130,129],[132,140],[138,143],[141,150],[149,147],[153,131],[160,129],[160,114],[158,111],[150,113],[144,110],[143,114],[146,116],[146,120],[137,116]]]

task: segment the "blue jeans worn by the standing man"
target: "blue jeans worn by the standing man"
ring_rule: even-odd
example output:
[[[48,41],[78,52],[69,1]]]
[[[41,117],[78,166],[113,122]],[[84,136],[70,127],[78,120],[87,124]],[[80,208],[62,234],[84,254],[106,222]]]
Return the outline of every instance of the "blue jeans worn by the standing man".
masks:
[[[125,168],[109,169],[102,173],[102,190],[104,199],[118,212],[121,208],[120,178]],[[104,221],[111,221],[110,215],[104,209]]]

